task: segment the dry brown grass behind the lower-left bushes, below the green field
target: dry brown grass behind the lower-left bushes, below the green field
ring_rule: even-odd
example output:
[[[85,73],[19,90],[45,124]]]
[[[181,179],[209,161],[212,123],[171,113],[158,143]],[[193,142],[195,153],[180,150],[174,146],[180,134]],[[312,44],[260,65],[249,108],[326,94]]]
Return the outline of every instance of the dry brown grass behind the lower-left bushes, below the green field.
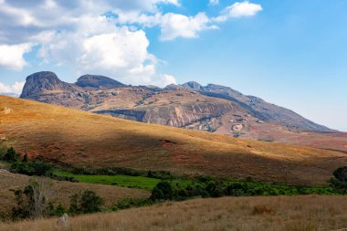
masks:
[[[10,212],[11,208],[16,205],[14,191],[23,189],[29,183],[29,179],[36,178],[14,173],[0,173],[0,214]],[[117,186],[58,182],[48,179],[47,181],[49,181],[48,185],[52,184],[50,200],[62,203],[66,207],[69,205],[70,195],[86,189],[93,190],[99,194],[104,199],[106,206],[115,205],[123,198],[142,198],[150,195],[149,192],[144,190]]]

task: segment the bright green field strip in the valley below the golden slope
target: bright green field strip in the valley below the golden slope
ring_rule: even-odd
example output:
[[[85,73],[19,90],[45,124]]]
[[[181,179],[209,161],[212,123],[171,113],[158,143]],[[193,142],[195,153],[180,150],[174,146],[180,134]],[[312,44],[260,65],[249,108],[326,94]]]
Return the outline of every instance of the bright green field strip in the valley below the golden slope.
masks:
[[[120,187],[138,188],[148,191],[152,191],[153,187],[161,180],[145,176],[131,176],[131,175],[85,175],[74,174],[63,171],[54,172],[60,176],[73,177],[80,183],[87,184],[104,184],[104,185],[117,185]],[[190,180],[174,180],[173,184],[179,184],[181,186],[190,184]]]

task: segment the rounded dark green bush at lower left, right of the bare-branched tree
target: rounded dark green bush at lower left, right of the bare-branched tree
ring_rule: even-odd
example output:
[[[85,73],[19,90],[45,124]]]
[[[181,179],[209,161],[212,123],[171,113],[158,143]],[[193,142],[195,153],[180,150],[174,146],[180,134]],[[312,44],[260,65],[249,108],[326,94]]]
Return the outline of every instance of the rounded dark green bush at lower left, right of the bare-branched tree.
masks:
[[[98,194],[85,190],[81,194],[73,194],[70,197],[68,212],[71,215],[96,213],[101,211],[101,205],[103,200]]]

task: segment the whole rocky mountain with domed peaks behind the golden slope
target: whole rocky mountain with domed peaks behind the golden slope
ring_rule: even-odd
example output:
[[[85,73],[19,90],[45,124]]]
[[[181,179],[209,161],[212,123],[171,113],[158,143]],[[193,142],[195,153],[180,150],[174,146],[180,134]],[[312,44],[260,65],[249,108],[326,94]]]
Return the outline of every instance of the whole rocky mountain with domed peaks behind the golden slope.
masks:
[[[70,84],[46,71],[26,78],[21,98],[132,121],[261,141],[285,141],[281,138],[300,132],[331,131],[257,97],[215,84],[204,87],[194,81],[160,89],[127,86],[107,77],[85,75]]]

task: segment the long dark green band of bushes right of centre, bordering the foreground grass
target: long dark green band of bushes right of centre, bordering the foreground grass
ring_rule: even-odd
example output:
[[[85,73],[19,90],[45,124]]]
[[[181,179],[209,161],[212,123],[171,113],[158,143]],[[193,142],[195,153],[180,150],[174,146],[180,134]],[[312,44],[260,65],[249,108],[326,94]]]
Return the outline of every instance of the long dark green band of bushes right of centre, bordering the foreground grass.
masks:
[[[171,187],[170,187],[171,185]],[[169,190],[163,190],[169,189]],[[341,192],[340,192],[341,193]],[[251,196],[251,195],[339,194],[331,187],[302,187],[282,184],[265,184],[253,181],[228,181],[215,177],[199,177],[198,181],[183,186],[161,182],[152,190],[151,199],[184,200],[194,197]]]

